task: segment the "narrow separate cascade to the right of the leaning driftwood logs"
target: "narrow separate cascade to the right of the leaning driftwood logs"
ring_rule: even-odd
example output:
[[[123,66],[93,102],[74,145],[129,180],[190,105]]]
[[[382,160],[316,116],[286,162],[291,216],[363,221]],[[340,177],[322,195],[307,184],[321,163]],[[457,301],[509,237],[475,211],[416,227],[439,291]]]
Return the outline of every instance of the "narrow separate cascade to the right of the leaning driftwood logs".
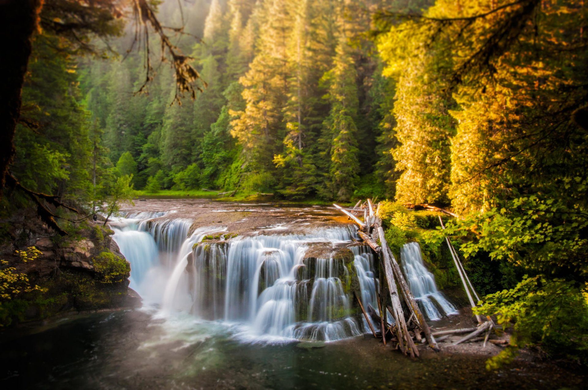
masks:
[[[456,311],[442,292],[437,290],[435,277],[425,267],[418,243],[405,244],[400,249],[400,260],[410,291],[427,319],[439,320],[443,315]]]

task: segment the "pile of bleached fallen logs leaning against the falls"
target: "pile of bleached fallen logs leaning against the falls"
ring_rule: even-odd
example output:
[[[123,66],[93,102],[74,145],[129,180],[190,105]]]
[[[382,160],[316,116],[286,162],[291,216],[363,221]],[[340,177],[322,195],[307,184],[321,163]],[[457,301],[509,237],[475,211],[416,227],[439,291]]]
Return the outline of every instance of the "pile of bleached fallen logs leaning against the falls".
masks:
[[[382,338],[383,344],[386,344],[386,341],[396,342],[396,348],[400,349],[403,354],[410,355],[411,357],[419,356],[419,349],[415,345],[415,340],[417,342],[422,341],[421,332],[425,335],[425,339],[429,347],[436,352],[439,351],[439,346],[437,345],[437,341],[435,339],[436,336],[442,336],[439,338],[439,340],[441,340],[454,334],[467,333],[465,337],[452,344],[457,345],[465,341],[472,341],[476,337],[479,337],[479,335],[482,335],[484,332],[486,332],[484,339],[484,346],[486,346],[486,342],[488,341],[491,331],[495,328],[495,325],[489,318],[487,318],[486,322],[483,322],[479,315],[476,315],[476,319],[479,323],[477,328],[465,328],[439,332],[431,331],[429,325],[425,321],[425,317],[420,311],[419,305],[417,305],[417,302],[415,301],[415,297],[413,297],[412,292],[410,292],[405,277],[402,274],[402,271],[400,271],[400,266],[392,254],[392,250],[390,250],[390,247],[386,242],[386,237],[384,236],[384,230],[382,228],[382,219],[378,216],[377,213],[377,211],[379,211],[379,204],[376,207],[376,210],[374,210],[375,206],[370,199],[365,201],[363,204],[362,201],[358,201],[358,203],[356,203],[352,209],[346,209],[337,204],[333,204],[333,206],[342,211],[342,213],[346,214],[346,216],[358,224],[359,237],[362,238],[364,243],[368,244],[368,246],[372,248],[372,250],[377,255],[377,258],[380,260],[380,267],[384,273],[384,275],[380,275],[380,280],[386,281],[387,293],[390,296],[390,305],[386,304],[387,294],[385,293],[385,288],[382,288],[379,295],[376,292],[378,306],[377,312],[376,309],[372,308],[370,305],[368,305],[368,308],[363,307],[360,298],[358,295],[355,295],[355,298],[363,311],[363,315],[366,319],[366,322],[368,322],[374,337]],[[429,207],[423,207],[423,209],[429,209]],[[360,217],[363,217],[363,221],[360,219]],[[445,228],[440,217],[439,220],[441,221],[441,226]],[[381,245],[378,244],[378,240]],[[475,307],[472,293],[475,295],[477,300],[479,300],[479,297],[473,289],[469,278],[467,278],[467,274],[459,260],[459,257],[457,257],[455,248],[453,248],[449,238],[446,240],[447,245],[449,246],[449,250],[452,254],[453,261],[455,262],[456,268],[459,271],[463,286],[470,300],[470,304],[472,307]],[[470,290],[472,293],[470,293]],[[405,303],[405,307],[407,308],[406,311],[403,310],[402,302]],[[387,322],[386,310],[390,313],[390,315],[392,315],[394,324],[389,324]],[[372,321],[369,320],[370,318]],[[380,324],[380,329],[374,329],[372,322],[375,324]]]

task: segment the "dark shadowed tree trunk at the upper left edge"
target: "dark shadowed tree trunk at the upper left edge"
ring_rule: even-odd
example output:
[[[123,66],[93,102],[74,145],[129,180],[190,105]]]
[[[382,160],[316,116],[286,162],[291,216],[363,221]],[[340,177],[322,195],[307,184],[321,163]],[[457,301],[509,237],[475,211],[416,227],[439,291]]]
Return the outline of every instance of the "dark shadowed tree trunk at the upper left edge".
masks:
[[[22,84],[43,0],[0,0],[0,199],[14,159],[14,134],[21,115]]]

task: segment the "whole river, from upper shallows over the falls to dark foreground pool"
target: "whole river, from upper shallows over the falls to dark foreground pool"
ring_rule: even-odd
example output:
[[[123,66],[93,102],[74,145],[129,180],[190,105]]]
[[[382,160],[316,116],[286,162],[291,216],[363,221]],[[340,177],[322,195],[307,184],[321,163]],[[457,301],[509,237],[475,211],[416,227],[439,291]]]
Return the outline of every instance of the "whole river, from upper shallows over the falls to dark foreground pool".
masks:
[[[413,360],[384,347],[350,294],[375,305],[374,259],[329,207],[192,199],[124,211],[111,227],[143,306],[2,332],[4,388],[530,389],[585,379],[530,352],[487,372],[496,345],[423,345]],[[418,248],[403,252],[431,324],[471,322],[436,290]]]

